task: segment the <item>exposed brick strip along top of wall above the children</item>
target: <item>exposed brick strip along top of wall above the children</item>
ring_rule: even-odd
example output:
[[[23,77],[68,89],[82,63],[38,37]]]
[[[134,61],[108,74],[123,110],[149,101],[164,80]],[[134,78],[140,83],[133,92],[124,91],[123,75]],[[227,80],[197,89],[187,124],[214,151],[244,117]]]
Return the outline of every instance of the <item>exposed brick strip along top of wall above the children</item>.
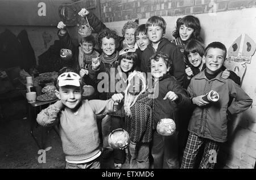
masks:
[[[92,0],[91,0],[92,1]],[[256,6],[255,0],[100,0],[102,22],[229,11]]]

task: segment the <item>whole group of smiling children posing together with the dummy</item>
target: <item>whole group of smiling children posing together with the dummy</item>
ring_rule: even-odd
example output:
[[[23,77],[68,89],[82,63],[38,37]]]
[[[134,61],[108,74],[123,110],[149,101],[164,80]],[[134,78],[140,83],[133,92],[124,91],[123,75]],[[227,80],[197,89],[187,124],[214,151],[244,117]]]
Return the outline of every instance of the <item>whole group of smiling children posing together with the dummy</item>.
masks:
[[[203,144],[200,168],[214,168],[209,151],[218,152],[226,141],[227,116],[252,103],[240,87],[240,78],[223,66],[225,45],[212,42],[204,48],[199,19],[192,15],[177,20],[173,42],[163,37],[166,22],[159,16],[141,25],[127,22],[120,37],[92,12],[83,8],[79,15],[86,16],[98,32],[100,50],[94,49],[92,35],[81,37],[75,47],[65,24],[57,25],[61,43],[76,49],[72,57],[76,68],[59,72],[60,101],[37,118],[43,126],[58,123],[66,168],[100,168],[101,153],[108,152],[113,153],[114,168],[122,167],[127,154],[134,169],[150,168],[150,157],[153,168],[195,168]],[[82,98],[84,83],[96,90],[94,100]],[[211,90],[220,96],[217,102],[203,100]],[[98,114],[105,115],[102,137]],[[177,126],[171,136],[156,131],[164,118],[174,119]],[[130,135],[128,151],[108,145],[109,133],[117,128]]]

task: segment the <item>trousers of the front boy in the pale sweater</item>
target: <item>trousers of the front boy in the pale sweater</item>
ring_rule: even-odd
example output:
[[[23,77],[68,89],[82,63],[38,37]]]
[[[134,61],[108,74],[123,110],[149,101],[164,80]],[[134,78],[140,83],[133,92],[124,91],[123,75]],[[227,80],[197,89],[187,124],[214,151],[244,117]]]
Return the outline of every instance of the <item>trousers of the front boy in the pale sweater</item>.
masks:
[[[66,163],[65,169],[100,169],[100,158],[97,157],[95,160],[90,162],[85,162],[82,164],[71,164],[69,162]]]

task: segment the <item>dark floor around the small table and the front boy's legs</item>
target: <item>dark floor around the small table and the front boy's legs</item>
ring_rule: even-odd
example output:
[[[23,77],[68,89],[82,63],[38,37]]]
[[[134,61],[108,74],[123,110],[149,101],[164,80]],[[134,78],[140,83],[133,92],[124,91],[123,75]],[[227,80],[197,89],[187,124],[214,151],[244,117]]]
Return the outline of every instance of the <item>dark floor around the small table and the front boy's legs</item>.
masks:
[[[36,169],[63,169],[65,168],[65,156],[61,146],[59,135],[52,129],[46,138],[46,163],[42,160],[42,153],[30,134],[30,121],[27,117],[26,101],[1,102],[0,118],[0,168],[36,168]],[[24,119],[23,119],[24,118]],[[34,135],[40,144],[42,127],[34,126]],[[101,167],[110,169],[114,167],[112,156],[102,158]],[[122,168],[129,168],[126,160]]]

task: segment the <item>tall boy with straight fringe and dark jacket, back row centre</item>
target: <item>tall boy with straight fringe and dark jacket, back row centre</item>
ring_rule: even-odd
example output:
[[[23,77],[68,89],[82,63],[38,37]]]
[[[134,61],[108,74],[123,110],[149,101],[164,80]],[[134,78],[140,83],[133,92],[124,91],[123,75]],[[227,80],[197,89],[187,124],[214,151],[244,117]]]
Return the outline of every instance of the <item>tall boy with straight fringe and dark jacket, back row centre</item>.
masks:
[[[163,52],[168,55],[172,62],[172,75],[182,84],[185,75],[185,64],[183,54],[176,45],[172,44],[163,36],[166,33],[166,21],[159,16],[152,16],[146,23],[147,36],[151,44],[142,53],[141,70],[142,72],[150,72],[150,57],[154,53]]]

